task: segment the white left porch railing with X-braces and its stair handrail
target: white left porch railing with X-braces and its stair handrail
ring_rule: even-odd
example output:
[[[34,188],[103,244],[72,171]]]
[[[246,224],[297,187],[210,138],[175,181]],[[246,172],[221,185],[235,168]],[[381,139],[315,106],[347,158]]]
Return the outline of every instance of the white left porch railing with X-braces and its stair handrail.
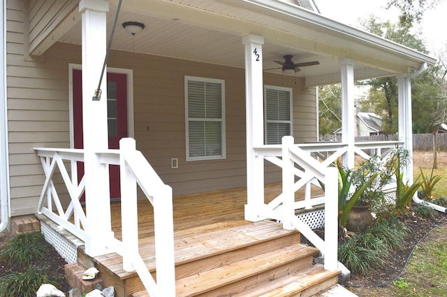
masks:
[[[98,152],[101,164],[120,165],[122,196],[122,240],[109,238],[104,244],[110,252],[123,256],[124,270],[135,270],[150,296],[175,296],[175,264],[173,233],[172,189],[163,183],[145,157],[135,150],[135,140],[120,140],[120,150]],[[84,161],[83,150],[35,148],[43,165],[45,182],[38,202],[38,212],[87,242],[89,220],[80,204],[85,191],[84,179],[78,183],[77,162]],[[66,161],[69,161],[67,164]],[[70,166],[70,171],[66,165]],[[59,169],[69,196],[66,210],[54,184],[54,173]],[[71,173],[71,174],[70,174]],[[138,252],[137,184],[154,207],[156,254],[156,282]],[[108,186],[108,185],[107,185]],[[89,197],[87,196],[87,199]],[[101,210],[98,210],[101,211]],[[90,214],[92,216],[94,214]],[[70,222],[73,221],[73,222]],[[110,232],[113,234],[112,232]]]

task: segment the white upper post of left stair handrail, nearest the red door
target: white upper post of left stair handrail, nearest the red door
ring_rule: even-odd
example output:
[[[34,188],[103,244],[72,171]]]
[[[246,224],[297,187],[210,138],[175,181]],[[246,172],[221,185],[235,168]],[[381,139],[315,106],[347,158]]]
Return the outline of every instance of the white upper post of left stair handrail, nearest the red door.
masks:
[[[119,140],[119,174],[121,182],[121,224],[123,242],[123,269],[134,270],[132,258],[138,254],[137,187],[126,164],[126,155],[135,152],[135,139]]]

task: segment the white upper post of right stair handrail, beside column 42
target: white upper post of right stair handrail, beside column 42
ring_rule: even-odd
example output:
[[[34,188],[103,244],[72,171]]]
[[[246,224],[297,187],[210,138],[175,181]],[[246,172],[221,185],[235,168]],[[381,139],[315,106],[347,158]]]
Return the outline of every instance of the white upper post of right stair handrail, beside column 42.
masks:
[[[283,228],[293,230],[292,219],[295,215],[295,192],[293,191],[293,184],[295,184],[295,174],[293,168],[295,162],[290,157],[290,149],[294,144],[292,136],[284,136],[282,138],[282,195],[283,195],[283,209],[282,209],[282,224]]]

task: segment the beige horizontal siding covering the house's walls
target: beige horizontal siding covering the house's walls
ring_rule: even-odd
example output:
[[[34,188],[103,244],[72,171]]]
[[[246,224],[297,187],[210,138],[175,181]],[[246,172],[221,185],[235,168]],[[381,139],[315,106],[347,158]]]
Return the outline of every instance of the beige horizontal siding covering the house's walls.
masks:
[[[22,1],[20,1],[22,2]],[[65,2],[65,1],[64,1]],[[30,8],[43,7],[31,1]],[[33,147],[69,147],[68,64],[80,64],[79,45],[56,43],[42,57],[24,57],[20,10],[8,5],[8,129],[13,215],[35,212],[43,168]],[[40,24],[32,27],[38,31]],[[22,31],[20,31],[20,29]],[[37,36],[38,34],[36,34]],[[108,66],[133,70],[134,130],[137,148],[174,194],[240,187],[246,184],[244,69],[112,50]],[[225,80],[226,159],[186,161],[184,76]],[[293,88],[295,142],[316,140],[314,89],[299,78],[265,73],[264,83]],[[178,158],[179,168],[170,168]],[[265,180],[279,180],[266,162]],[[62,188],[61,178],[55,180]],[[62,196],[66,191],[61,189]]]

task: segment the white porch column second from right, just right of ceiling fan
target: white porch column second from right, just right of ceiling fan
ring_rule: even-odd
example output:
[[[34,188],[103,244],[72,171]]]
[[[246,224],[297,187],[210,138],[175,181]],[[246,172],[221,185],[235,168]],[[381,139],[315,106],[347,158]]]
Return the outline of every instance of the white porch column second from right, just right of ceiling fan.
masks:
[[[356,122],[354,108],[354,64],[353,59],[340,59],[342,75],[342,143],[348,145],[343,164],[354,168],[354,145],[356,141]]]

